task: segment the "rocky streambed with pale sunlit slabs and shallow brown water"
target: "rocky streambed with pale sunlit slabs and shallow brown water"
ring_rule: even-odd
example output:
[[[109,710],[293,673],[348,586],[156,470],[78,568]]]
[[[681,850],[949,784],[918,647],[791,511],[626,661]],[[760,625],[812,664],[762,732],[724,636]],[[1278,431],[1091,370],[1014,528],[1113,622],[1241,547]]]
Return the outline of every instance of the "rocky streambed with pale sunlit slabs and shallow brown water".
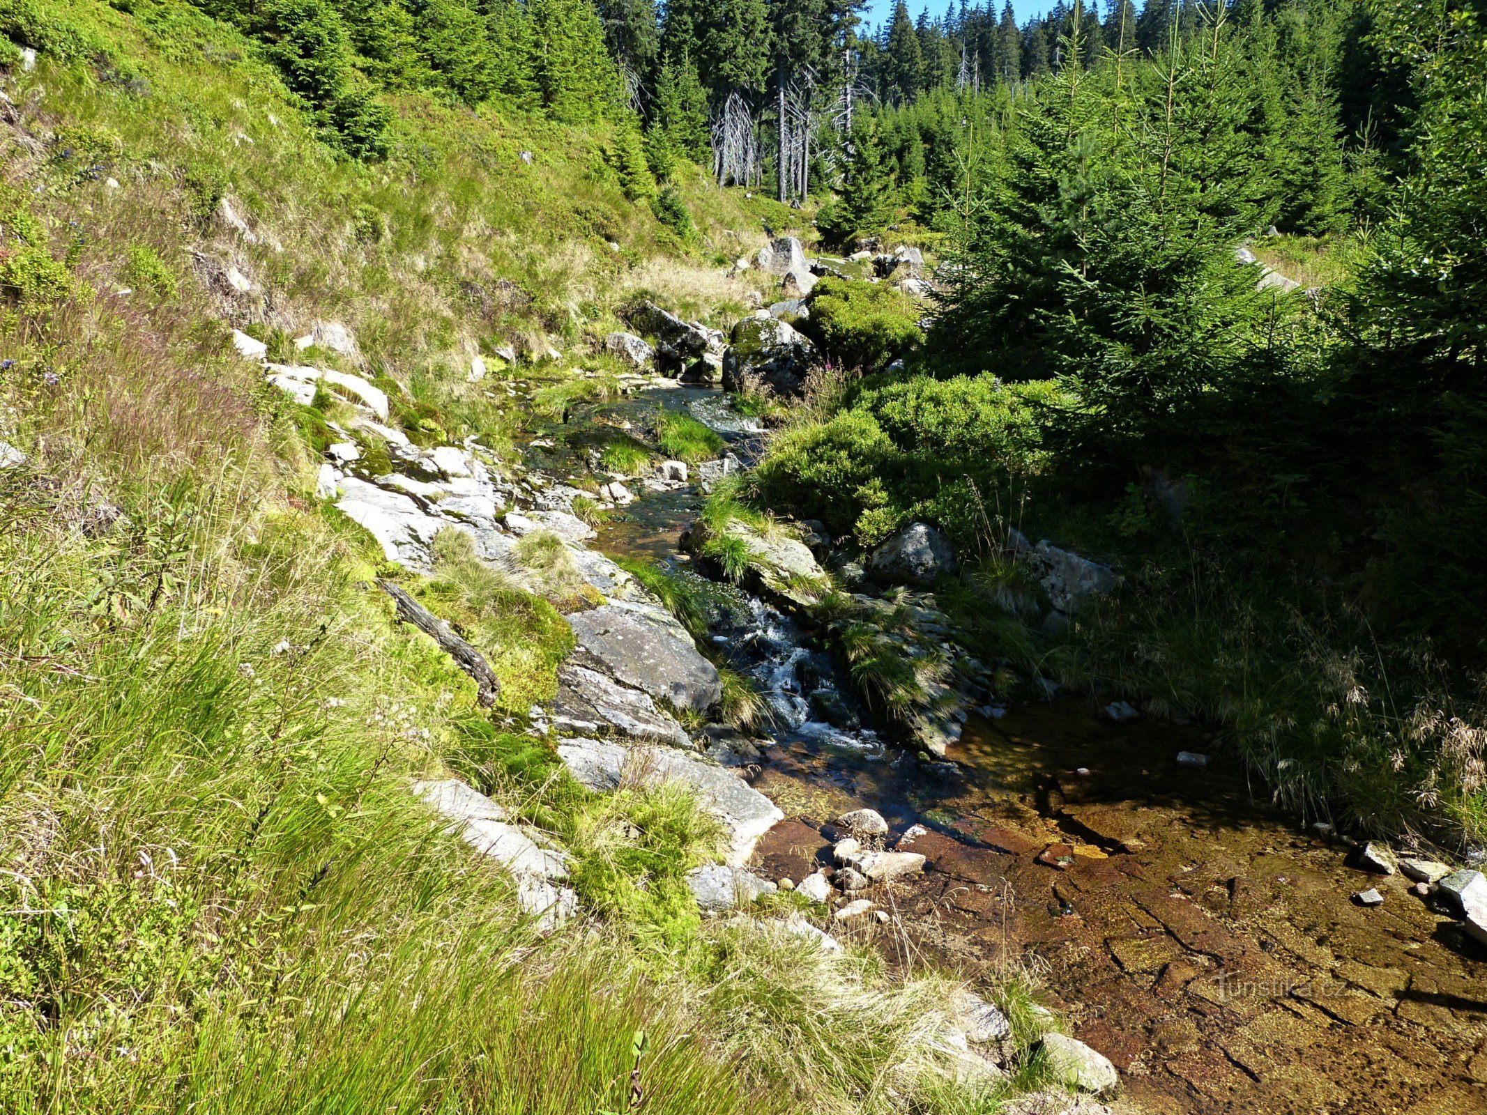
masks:
[[[578,650],[558,699],[534,708],[532,723],[595,789],[636,772],[697,789],[730,833],[726,862],[694,880],[705,908],[797,888],[824,901],[816,919],[793,919],[793,932],[822,947],[855,938],[894,963],[931,960],[972,981],[1035,971],[1074,1035],[1120,1070],[1117,1103],[1139,1111],[1487,1111],[1487,950],[1438,895],[1413,893],[1401,874],[1370,874],[1356,849],[1303,831],[1222,760],[1179,764],[1179,752],[1215,751],[1201,728],[1112,714],[1088,697],[1004,708],[984,668],[956,656],[923,590],[883,601],[864,586],[857,607],[880,620],[883,653],[950,656],[917,739],[943,758],[874,730],[840,662],[788,614],[797,578],[739,593],[711,635],[755,681],[773,724],[755,739],[683,727],[680,715],[718,700],[718,673],[599,547],[686,566],[680,543],[699,489],[746,467],[757,428],[715,391],[642,378],[632,388],[567,422],[623,425],[626,409],[686,409],[730,446],[690,470],[607,480],[598,498],[619,514],[598,531],[575,514],[592,491],[564,477],[578,462],[544,431],[513,467],[473,442],[413,446],[372,404],[330,447],[320,494],[410,569],[427,566],[442,529],[464,531],[517,578],[522,537],[562,541],[587,599],[568,615]],[[358,465],[369,437],[391,473]],[[1047,544],[1028,553],[1048,571],[1071,566],[1059,574],[1071,590],[1108,572]],[[465,791],[419,788],[517,876],[534,914],[547,925],[567,917],[561,849]],[[876,810],[880,828],[849,824],[861,809]],[[1380,904],[1355,899],[1370,888]],[[1087,1053],[1071,1048],[1074,1061]],[[1071,1079],[1080,1070],[1106,1087],[1103,1059],[1069,1067]]]

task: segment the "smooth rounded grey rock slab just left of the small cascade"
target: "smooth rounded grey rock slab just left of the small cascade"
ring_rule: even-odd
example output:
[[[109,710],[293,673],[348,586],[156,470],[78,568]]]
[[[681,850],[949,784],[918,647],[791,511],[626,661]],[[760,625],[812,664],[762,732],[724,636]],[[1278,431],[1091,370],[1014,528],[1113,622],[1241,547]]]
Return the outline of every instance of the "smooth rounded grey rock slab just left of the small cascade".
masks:
[[[607,604],[567,618],[583,653],[616,681],[696,712],[723,696],[717,668],[660,610]]]

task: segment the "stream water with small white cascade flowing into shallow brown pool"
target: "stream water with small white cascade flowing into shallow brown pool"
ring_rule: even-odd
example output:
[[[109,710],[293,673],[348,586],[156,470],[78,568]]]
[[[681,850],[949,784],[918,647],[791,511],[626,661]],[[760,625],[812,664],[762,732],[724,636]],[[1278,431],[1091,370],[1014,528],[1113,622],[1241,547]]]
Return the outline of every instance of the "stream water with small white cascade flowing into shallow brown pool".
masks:
[[[717,421],[717,400],[662,391],[605,421],[657,404]],[[752,452],[752,434],[730,437]],[[694,489],[647,492],[598,546],[684,562],[699,505]],[[883,899],[888,926],[854,934],[970,978],[1035,969],[1135,1111],[1487,1112],[1487,950],[1402,877],[1349,867],[1344,844],[1309,836],[1236,764],[1179,766],[1179,751],[1215,751],[1204,730],[1112,724],[1066,697],[972,718],[955,767],[920,764],[867,725],[787,615],[744,608],[715,638],[776,712],[754,785],[787,819],[758,847],[763,874],[827,864],[848,809],[882,812],[891,840],[919,827],[903,846],[928,858],[923,879]],[[843,727],[816,717],[822,694]],[[1381,907],[1352,901],[1368,886]]]

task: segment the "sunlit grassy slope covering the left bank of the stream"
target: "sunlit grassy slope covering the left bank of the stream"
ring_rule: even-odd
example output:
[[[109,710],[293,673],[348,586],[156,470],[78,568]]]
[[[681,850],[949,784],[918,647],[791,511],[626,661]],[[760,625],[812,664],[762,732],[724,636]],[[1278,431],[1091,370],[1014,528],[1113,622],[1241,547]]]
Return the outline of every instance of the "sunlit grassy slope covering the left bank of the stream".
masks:
[[[0,436],[30,461],[0,471],[0,1106],[622,1111],[642,1026],[647,1111],[989,1109],[922,1079],[943,980],[678,910],[690,803],[589,798],[501,734],[306,498],[315,415],[225,355],[229,323],[338,318],[410,433],[498,440],[516,416],[470,355],[571,348],[639,290],[726,317],[709,253],[769,207],[687,183],[712,247],[680,253],[602,135],[419,98],[388,164],[338,162],[248,43],[131,9],[48,4],[43,46],[109,56],[4,80]],[[428,592],[474,608],[458,566]],[[567,838],[607,917],[532,948],[410,801],[449,767]]]

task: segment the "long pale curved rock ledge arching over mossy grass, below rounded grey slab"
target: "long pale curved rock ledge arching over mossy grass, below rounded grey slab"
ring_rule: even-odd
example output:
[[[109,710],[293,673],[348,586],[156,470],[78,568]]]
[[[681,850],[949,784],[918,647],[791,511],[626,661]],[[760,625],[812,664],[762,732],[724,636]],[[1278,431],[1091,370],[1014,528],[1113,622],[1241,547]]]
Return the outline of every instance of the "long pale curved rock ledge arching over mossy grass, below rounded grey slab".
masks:
[[[729,834],[730,867],[742,867],[754,844],[785,815],[775,804],[724,767],[680,751],[657,746],[620,746],[598,739],[564,739],[558,755],[578,782],[599,792],[616,789],[622,779],[656,786],[681,782],[697,795],[699,806],[723,822]]]

